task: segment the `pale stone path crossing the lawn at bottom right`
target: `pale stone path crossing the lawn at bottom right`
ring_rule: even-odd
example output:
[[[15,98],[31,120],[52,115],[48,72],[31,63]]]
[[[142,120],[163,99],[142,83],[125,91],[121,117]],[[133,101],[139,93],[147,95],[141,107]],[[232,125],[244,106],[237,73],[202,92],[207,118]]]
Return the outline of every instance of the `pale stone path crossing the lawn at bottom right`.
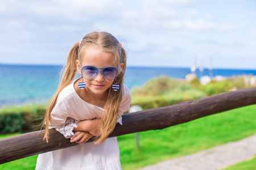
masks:
[[[237,142],[209,148],[196,154],[166,160],[140,170],[216,170],[251,159],[256,154],[256,134]]]

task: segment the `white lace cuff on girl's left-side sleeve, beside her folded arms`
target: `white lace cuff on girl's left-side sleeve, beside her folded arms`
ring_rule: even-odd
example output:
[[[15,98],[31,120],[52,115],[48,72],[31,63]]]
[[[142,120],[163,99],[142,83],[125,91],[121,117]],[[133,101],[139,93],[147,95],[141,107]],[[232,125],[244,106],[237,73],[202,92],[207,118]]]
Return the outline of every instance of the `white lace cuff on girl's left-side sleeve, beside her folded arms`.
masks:
[[[68,117],[65,123],[62,124],[60,128],[56,128],[56,130],[63,134],[65,138],[71,138],[74,135],[73,129],[77,128],[77,122],[79,122],[79,120],[77,121]]]

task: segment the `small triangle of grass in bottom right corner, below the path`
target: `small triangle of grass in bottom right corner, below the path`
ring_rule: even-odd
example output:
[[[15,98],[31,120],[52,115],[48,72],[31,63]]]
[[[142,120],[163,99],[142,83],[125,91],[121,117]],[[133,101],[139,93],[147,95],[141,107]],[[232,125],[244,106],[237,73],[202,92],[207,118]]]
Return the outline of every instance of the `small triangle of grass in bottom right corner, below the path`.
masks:
[[[228,168],[222,170],[255,170],[256,169],[256,155],[253,159],[247,160],[245,162],[232,165]]]

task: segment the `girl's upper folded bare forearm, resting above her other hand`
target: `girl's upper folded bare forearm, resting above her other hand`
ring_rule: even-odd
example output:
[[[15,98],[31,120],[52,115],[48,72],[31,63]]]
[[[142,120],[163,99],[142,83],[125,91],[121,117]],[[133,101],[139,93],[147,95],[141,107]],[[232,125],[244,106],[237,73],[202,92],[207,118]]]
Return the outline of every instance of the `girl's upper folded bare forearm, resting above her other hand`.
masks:
[[[83,120],[77,122],[77,128],[74,128],[75,131],[88,131],[90,134],[97,137],[100,135],[100,124],[101,118],[94,118],[93,120]]]

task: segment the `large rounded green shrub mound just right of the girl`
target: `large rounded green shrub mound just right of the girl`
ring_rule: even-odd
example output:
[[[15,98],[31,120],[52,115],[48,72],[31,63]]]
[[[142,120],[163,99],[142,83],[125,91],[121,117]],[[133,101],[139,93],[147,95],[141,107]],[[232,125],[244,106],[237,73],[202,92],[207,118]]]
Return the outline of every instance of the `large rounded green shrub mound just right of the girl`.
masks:
[[[143,87],[131,90],[131,96],[131,105],[151,109],[204,97],[205,93],[183,81],[160,76],[148,81]]]

